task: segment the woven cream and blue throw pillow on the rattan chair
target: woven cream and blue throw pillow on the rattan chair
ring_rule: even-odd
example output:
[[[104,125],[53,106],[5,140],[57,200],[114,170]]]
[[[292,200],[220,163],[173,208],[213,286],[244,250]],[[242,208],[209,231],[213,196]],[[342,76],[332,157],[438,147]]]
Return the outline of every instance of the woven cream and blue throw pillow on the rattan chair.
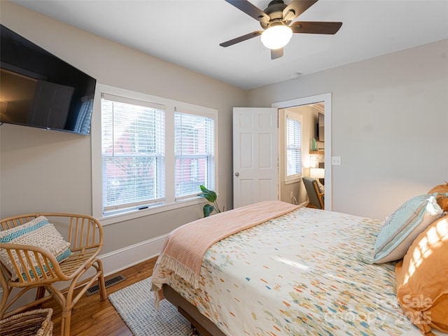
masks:
[[[62,262],[71,255],[70,243],[64,240],[64,237],[57,232],[55,226],[52,225],[47,218],[44,216],[39,216],[34,218],[32,221],[19,225],[18,227],[11,228],[0,232],[0,243],[10,243],[10,244],[24,244],[30,246],[38,246],[49,251],[55,256],[58,262]],[[25,276],[25,269],[22,269],[20,264],[20,259],[17,253],[14,253],[14,259],[20,265],[20,272]],[[25,258],[22,254],[22,258]],[[8,253],[5,248],[0,250],[0,261],[5,265],[11,272],[12,280],[18,279],[18,274],[13,267],[13,262],[10,260]],[[31,262],[34,267],[37,267],[38,263],[34,255],[31,255]],[[27,265],[29,265],[27,263]],[[31,267],[29,267],[31,269]],[[45,270],[45,269],[44,269]],[[41,269],[36,268],[38,276],[41,276]],[[46,270],[45,270],[46,272]],[[34,275],[34,274],[32,274]],[[34,276],[33,276],[34,277]]]

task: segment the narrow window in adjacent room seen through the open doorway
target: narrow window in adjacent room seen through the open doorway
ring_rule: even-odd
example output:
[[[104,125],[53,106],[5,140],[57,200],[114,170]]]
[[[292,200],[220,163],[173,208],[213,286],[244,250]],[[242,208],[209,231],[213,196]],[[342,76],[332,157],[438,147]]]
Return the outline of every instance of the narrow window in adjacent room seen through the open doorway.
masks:
[[[302,176],[302,116],[286,113],[286,180]]]

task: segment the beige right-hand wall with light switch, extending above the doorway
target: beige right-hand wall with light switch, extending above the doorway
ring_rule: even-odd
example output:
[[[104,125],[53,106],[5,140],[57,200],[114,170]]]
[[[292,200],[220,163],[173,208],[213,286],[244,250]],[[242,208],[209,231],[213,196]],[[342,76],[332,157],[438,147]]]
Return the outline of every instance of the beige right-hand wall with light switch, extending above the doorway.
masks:
[[[333,210],[384,219],[448,181],[448,40],[258,87],[248,105],[326,92]]]

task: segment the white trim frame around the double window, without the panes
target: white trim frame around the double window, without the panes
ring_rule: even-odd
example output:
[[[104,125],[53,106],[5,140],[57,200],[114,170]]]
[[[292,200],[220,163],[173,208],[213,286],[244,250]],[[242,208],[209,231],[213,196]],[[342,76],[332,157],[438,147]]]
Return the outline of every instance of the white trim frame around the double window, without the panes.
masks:
[[[120,214],[104,216],[102,211],[102,132],[101,132],[101,95],[111,94],[119,97],[127,97],[148,103],[165,105],[165,202],[162,204],[151,204],[146,209],[132,210]],[[178,102],[173,99],[153,96],[142,92],[126,90],[120,87],[113,87],[102,83],[97,83],[94,97],[92,113],[92,127],[90,133],[91,157],[92,157],[92,216],[99,219],[102,225],[109,225],[130,219],[158,214],[164,211],[188,207],[195,204],[204,203],[203,197],[192,197],[186,200],[175,200],[174,184],[174,111],[176,109],[199,116],[214,118],[214,174],[215,187],[218,193],[218,110],[209,107],[197,106],[185,102]],[[169,176],[173,178],[170,179]],[[200,193],[200,190],[198,190]]]

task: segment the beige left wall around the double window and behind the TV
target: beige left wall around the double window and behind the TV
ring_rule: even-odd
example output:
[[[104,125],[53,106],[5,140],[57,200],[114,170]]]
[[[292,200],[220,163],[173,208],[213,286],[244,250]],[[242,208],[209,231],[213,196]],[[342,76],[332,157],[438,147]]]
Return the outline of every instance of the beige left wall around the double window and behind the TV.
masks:
[[[219,202],[232,207],[232,107],[246,92],[1,1],[1,24],[97,78],[98,83],[218,109]],[[150,43],[150,42],[148,42]],[[92,130],[99,132],[99,130]],[[0,217],[34,211],[92,214],[90,137],[0,126]],[[202,206],[106,225],[103,252],[202,217]]]

